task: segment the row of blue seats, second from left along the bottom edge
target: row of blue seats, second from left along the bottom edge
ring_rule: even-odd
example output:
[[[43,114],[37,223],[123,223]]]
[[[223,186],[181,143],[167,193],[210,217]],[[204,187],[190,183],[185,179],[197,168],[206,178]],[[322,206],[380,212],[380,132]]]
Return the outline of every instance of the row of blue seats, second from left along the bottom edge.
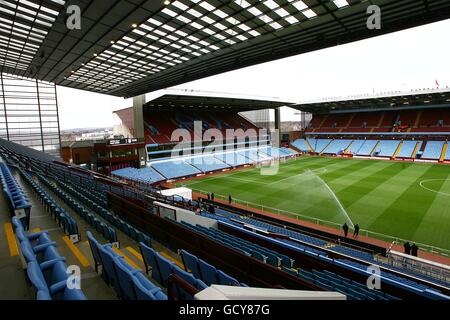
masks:
[[[90,232],[87,238],[95,265],[102,267],[102,276],[123,300],[167,300],[161,288],[155,286],[141,270],[134,269],[116,253],[110,243],[100,244]]]

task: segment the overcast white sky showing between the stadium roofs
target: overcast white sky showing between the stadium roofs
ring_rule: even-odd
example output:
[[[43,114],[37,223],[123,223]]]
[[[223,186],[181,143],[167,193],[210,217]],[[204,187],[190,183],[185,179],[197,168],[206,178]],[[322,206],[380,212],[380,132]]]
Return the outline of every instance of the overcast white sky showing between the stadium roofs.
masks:
[[[450,86],[450,19],[223,73],[175,88],[299,102]],[[61,129],[107,127],[125,100],[58,86]],[[284,110],[282,120],[291,120]]]

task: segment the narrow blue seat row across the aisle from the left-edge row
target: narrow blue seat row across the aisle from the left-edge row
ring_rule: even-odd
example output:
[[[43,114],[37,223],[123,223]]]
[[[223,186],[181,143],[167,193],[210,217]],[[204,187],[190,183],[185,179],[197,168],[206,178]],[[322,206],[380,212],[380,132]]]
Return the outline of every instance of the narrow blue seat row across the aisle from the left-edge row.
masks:
[[[19,172],[21,177],[31,186],[45,210],[56,220],[64,233],[68,234],[72,241],[79,241],[80,235],[77,222],[24,169],[20,168]]]

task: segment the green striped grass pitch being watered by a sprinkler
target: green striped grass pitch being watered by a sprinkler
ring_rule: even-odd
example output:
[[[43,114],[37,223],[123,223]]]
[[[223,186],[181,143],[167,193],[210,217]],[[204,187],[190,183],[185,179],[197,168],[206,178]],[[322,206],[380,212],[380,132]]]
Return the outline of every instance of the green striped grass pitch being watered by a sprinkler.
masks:
[[[280,163],[275,175],[252,168],[178,185],[450,249],[450,166],[304,157]]]

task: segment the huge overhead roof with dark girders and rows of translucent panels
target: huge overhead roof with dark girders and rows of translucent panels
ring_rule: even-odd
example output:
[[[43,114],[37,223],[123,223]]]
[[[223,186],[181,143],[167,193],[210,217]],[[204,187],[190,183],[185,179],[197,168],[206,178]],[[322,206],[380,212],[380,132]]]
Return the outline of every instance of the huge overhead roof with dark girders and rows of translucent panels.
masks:
[[[450,17],[448,0],[0,3],[1,72],[123,97]],[[66,27],[73,4],[81,30]]]

